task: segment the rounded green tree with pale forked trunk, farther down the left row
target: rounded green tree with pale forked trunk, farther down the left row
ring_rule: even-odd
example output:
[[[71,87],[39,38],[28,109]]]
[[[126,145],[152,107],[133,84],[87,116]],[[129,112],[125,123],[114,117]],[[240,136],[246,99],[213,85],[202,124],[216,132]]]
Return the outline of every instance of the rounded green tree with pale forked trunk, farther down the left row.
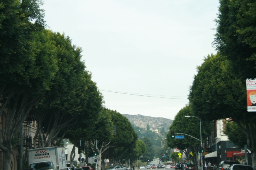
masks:
[[[111,159],[113,158],[126,157],[127,155],[129,156],[136,147],[136,141],[138,137],[126,117],[116,111],[106,108],[104,109],[104,112],[110,115],[111,124],[117,127],[116,135],[111,137],[111,135],[107,134],[113,134],[113,127],[107,130],[104,128],[104,126],[102,127],[102,125],[99,124],[100,128],[95,129],[96,135],[94,136],[94,139],[98,139],[98,161],[103,163],[104,159],[108,157],[110,161],[109,163],[111,164]],[[109,138],[102,138],[102,135]],[[90,142],[92,149],[96,144],[94,139]],[[99,169],[101,166],[102,165],[99,163]],[[103,166],[102,170],[104,170]]]

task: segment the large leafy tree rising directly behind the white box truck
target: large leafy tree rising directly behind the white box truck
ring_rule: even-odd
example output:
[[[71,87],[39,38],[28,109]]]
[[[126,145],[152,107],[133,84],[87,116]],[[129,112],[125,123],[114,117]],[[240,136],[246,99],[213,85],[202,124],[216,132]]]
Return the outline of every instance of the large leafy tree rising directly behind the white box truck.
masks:
[[[37,142],[41,140],[39,147],[49,146],[63,128],[74,125],[81,116],[88,121],[95,120],[102,109],[102,96],[81,61],[82,49],[72,46],[64,34],[44,32],[51,34],[55,42],[59,69],[47,97],[37,104],[35,136],[38,136]],[[62,132],[61,138],[67,130]]]

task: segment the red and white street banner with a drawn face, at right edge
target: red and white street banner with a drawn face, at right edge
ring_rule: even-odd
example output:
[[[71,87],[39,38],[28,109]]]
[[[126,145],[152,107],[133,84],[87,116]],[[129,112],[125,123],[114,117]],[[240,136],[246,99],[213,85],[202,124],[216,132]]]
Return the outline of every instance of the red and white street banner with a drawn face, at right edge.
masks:
[[[256,79],[246,80],[247,112],[256,112]]]

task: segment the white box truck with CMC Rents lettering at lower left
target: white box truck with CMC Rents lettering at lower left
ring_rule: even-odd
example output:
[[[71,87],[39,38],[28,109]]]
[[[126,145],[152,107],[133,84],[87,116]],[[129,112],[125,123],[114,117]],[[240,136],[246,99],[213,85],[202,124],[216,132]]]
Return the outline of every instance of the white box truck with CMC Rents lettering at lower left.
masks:
[[[35,170],[67,170],[64,147],[47,147],[28,150],[29,168]]]

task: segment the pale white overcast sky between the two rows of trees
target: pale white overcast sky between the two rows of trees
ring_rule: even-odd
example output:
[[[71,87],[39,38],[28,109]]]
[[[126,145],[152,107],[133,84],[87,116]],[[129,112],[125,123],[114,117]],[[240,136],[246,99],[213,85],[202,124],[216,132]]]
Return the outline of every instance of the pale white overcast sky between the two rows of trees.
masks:
[[[46,24],[82,47],[99,89],[181,96],[211,46],[218,0],[45,0]],[[188,100],[102,91],[122,114],[174,119]]]

